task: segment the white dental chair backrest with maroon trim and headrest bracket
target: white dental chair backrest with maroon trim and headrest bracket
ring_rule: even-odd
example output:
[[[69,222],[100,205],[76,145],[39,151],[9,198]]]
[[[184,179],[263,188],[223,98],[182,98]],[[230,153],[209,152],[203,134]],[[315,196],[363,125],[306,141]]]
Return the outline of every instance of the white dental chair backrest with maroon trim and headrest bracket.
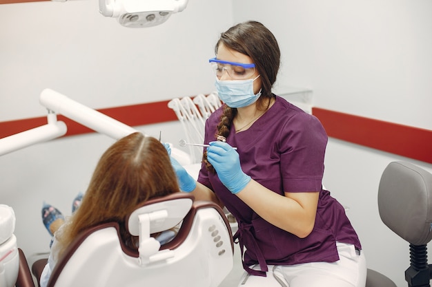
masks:
[[[177,235],[162,246],[150,237],[179,223]],[[127,224],[139,236],[138,250],[122,242],[117,222],[95,226],[69,246],[48,287],[216,287],[233,267],[232,233],[216,204],[175,193],[149,200]]]

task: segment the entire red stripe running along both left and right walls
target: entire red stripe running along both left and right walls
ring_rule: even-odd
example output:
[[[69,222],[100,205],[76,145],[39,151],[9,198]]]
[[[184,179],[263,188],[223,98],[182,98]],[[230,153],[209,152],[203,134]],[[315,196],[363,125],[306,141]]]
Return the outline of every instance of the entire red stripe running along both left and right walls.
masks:
[[[98,111],[121,123],[136,127],[177,120],[173,109],[168,107],[168,102],[169,100],[164,100],[98,109]],[[389,123],[319,107],[313,107],[312,114],[320,119],[328,136],[432,163],[432,131],[429,129]],[[59,115],[57,118],[63,120],[68,126],[66,136],[94,132],[64,116]],[[46,116],[0,122],[0,138],[46,125],[46,123]]]

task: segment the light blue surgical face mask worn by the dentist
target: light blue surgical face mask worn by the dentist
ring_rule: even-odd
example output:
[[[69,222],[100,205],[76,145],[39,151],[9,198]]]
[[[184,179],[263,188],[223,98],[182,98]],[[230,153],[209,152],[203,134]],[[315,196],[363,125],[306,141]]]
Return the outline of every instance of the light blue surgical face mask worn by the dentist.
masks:
[[[217,95],[228,107],[247,107],[248,105],[252,105],[261,96],[261,90],[258,94],[253,94],[253,81],[258,77],[259,75],[254,79],[242,81],[220,81],[216,78]]]

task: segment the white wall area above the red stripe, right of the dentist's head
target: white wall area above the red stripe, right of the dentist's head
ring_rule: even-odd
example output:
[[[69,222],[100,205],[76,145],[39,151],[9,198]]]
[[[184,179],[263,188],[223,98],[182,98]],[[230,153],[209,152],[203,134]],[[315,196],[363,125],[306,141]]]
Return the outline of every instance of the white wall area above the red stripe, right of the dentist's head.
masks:
[[[235,22],[277,37],[279,85],[313,89],[317,107],[432,129],[431,1],[233,3]]]

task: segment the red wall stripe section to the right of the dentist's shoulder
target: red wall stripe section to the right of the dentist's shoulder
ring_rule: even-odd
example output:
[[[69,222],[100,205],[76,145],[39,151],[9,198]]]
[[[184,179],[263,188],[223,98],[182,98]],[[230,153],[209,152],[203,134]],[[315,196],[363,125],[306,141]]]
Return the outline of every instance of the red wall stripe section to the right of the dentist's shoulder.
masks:
[[[432,130],[319,107],[313,107],[312,114],[320,119],[328,136],[432,163]]]

